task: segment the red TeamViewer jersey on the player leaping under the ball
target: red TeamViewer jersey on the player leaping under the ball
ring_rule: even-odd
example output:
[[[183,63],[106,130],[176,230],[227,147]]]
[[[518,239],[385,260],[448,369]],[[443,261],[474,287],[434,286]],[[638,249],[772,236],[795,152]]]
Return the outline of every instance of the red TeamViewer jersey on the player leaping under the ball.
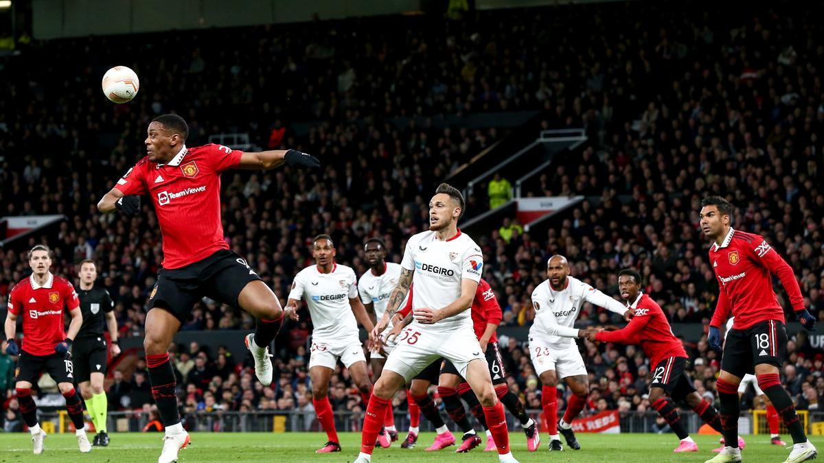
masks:
[[[163,268],[179,269],[229,249],[220,220],[220,174],[241,162],[243,152],[222,145],[183,147],[168,164],[144,157],[116,189],[148,194],[163,236]]]

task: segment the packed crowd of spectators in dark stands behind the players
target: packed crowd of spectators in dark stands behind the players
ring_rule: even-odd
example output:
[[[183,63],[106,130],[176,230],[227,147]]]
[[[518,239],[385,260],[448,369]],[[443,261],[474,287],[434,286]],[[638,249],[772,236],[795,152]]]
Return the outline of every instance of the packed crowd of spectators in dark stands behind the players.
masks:
[[[0,249],[0,298],[26,275],[23,245],[44,241],[54,248],[55,274],[72,276],[80,260],[97,260],[98,284],[115,299],[122,335],[141,334],[162,256],[157,218],[147,201],[143,215],[132,219],[103,217],[95,204],[143,156],[147,121],[166,110],[186,108],[190,145],[205,143],[210,133],[248,132],[260,147],[294,147],[323,161],[314,173],[286,168],[223,176],[227,241],[282,298],[292,275],[312,263],[309,245],[319,233],[335,237],[339,262],[358,274],[366,271],[361,244],[368,236],[384,238],[390,259],[400,261],[405,237],[427,222],[434,185],[505,136],[495,128],[442,127],[437,117],[423,124],[398,118],[541,110],[547,126],[583,126],[589,143],[583,152],[557,157],[528,193],[588,199],[559,216],[545,236],[523,233],[517,222],[475,236],[503,325],[531,324],[529,295],[554,254],[566,255],[574,276],[607,294],[616,294],[618,269],[641,269],[646,292],[672,322],[706,323],[718,286],[697,232],[705,194],[735,201],[735,227],[764,235],[784,255],[820,317],[824,146],[817,133],[824,129],[824,102],[817,70],[824,69],[824,47],[812,37],[822,26],[786,4],[770,7],[753,6],[734,25],[723,14],[685,5],[630,3],[480,12],[442,27],[398,17],[228,35],[173,32],[139,44],[127,37],[35,44],[7,61],[9,78],[0,84],[0,152],[7,153],[0,203],[4,215],[68,219],[56,238],[31,236]],[[508,21],[500,21],[502,14]],[[81,49],[94,64],[78,68],[72,57]],[[183,59],[181,50],[187,50]],[[115,51],[140,63],[134,68],[143,93],[129,105],[111,106],[89,85]],[[55,86],[65,75],[77,78]],[[779,297],[784,302],[780,291]],[[613,322],[592,306],[579,320]],[[253,327],[245,313],[205,300],[183,329]],[[245,359],[179,346],[185,412],[311,409],[310,330],[306,322],[285,326],[272,389],[252,381]],[[511,386],[528,408],[540,409],[541,385],[528,353],[517,339],[502,342]],[[591,409],[648,409],[642,353],[580,345],[595,386]],[[705,338],[686,345],[695,384],[712,398],[717,357]],[[822,361],[805,334],[790,341],[785,384],[808,408],[824,394]],[[143,368],[130,378],[115,372],[113,409],[150,401]],[[362,406],[348,379],[343,371],[333,376],[335,409]],[[13,399],[7,402],[13,410]],[[405,409],[402,393],[396,405]]]

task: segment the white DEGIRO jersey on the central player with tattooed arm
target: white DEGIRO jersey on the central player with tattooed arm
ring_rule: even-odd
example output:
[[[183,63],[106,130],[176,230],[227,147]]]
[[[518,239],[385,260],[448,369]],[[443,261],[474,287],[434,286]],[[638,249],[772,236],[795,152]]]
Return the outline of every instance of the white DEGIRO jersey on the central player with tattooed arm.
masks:
[[[412,310],[422,307],[442,309],[461,297],[461,280],[479,282],[484,267],[480,247],[466,233],[447,241],[435,239],[435,232],[421,232],[406,242],[404,260],[400,266],[414,271]],[[422,325],[413,320],[417,330],[447,332],[468,328],[472,330],[471,303],[465,311],[439,320],[434,325]]]

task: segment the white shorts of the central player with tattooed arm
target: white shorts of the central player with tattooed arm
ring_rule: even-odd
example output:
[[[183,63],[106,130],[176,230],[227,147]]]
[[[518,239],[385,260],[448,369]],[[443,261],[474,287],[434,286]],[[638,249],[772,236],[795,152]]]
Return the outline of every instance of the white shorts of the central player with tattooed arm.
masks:
[[[466,367],[473,360],[486,364],[486,355],[480,349],[478,338],[471,327],[443,333],[441,331],[421,331],[418,326],[410,326],[396,338],[396,347],[386,359],[384,370],[391,370],[409,382],[432,362],[444,358],[466,377]]]

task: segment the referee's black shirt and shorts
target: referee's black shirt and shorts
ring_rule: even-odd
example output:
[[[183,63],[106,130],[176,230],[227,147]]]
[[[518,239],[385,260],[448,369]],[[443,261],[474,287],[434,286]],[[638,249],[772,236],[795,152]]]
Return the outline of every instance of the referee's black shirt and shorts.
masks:
[[[83,325],[77,333],[77,339],[72,344],[72,360],[74,362],[74,377],[78,383],[89,381],[91,373],[105,375],[106,342],[103,334],[106,330],[105,314],[115,308],[109,292],[104,288],[91,287],[89,290],[77,288],[77,297],[80,298],[80,310],[83,314]]]

